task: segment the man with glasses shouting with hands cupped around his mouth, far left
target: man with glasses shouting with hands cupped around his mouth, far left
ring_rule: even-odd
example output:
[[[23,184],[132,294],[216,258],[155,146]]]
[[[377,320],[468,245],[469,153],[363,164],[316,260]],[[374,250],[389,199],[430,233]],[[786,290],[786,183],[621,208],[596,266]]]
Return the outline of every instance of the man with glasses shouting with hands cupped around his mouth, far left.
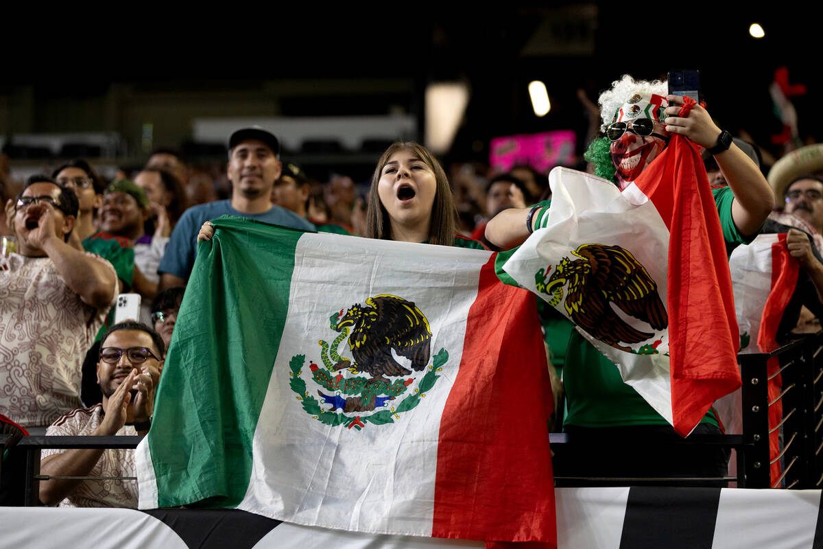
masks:
[[[117,296],[111,264],[67,240],[77,197],[44,175],[14,205],[18,251],[0,258],[0,413],[42,434],[80,404],[81,364]]]

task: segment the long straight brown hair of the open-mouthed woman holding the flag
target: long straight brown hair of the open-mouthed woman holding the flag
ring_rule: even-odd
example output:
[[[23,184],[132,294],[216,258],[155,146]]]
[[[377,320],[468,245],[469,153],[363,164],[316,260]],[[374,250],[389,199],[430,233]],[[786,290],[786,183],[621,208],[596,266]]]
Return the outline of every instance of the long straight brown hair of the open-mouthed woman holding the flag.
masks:
[[[367,238],[392,240],[388,212],[386,212],[383,202],[380,202],[377,185],[380,182],[380,174],[392,155],[398,151],[407,150],[412,151],[435,173],[437,187],[435,190],[435,203],[431,206],[429,243],[451,246],[454,244],[454,227],[457,225],[458,210],[454,206],[449,179],[435,156],[427,148],[416,142],[395,142],[386,149],[383,156],[380,156],[377,168],[371,176],[369,205],[365,214],[365,236]]]

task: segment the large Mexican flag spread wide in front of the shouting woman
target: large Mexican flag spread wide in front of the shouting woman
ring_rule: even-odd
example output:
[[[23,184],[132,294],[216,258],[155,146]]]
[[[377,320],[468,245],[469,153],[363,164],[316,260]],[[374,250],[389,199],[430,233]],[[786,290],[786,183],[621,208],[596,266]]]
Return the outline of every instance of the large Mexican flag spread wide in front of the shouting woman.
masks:
[[[214,225],[137,448],[141,509],[555,542],[536,303],[494,254]]]

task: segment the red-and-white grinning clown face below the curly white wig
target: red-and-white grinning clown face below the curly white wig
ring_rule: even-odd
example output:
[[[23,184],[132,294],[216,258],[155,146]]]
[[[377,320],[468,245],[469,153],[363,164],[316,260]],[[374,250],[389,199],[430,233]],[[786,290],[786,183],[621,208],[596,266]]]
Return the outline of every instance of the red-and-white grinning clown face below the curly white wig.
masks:
[[[662,95],[635,94],[615,113],[613,123],[625,122],[631,126],[638,119],[651,119],[654,123],[652,135],[639,136],[629,128],[620,139],[611,142],[611,162],[617,170],[615,175],[621,189],[634,181],[666,148],[669,133],[660,120],[667,105]]]

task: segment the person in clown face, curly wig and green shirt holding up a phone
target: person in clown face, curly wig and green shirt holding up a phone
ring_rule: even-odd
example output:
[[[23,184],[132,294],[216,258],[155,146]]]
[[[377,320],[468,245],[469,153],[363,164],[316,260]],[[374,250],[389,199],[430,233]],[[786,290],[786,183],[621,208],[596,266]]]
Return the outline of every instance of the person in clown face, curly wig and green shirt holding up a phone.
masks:
[[[774,195],[751,158],[732,143],[706,109],[694,105],[680,116],[683,98],[665,95],[661,81],[635,81],[626,75],[600,95],[602,127],[606,137],[589,147],[587,160],[596,174],[611,179],[621,190],[667,147],[672,133],[704,147],[723,171],[728,187],[713,189],[723,237],[727,243],[747,244],[774,207]],[[532,230],[546,226],[551,202],[501,212],[486,226],[486,237],[501,248],[522,244]],[[620,445],[607,458],[586,444],[558,449],[556,472],[585,477],[723,477],[728,451],[713,446],[662,446],[650,455],[627,439],[649,442],[677,441],[668,422],[623,382],[616,366],[576,330],[571,333],[563,368],[567,415],[564,430],[574,440]],[[704,416],[694,433],[718,434],[714,410]]]

